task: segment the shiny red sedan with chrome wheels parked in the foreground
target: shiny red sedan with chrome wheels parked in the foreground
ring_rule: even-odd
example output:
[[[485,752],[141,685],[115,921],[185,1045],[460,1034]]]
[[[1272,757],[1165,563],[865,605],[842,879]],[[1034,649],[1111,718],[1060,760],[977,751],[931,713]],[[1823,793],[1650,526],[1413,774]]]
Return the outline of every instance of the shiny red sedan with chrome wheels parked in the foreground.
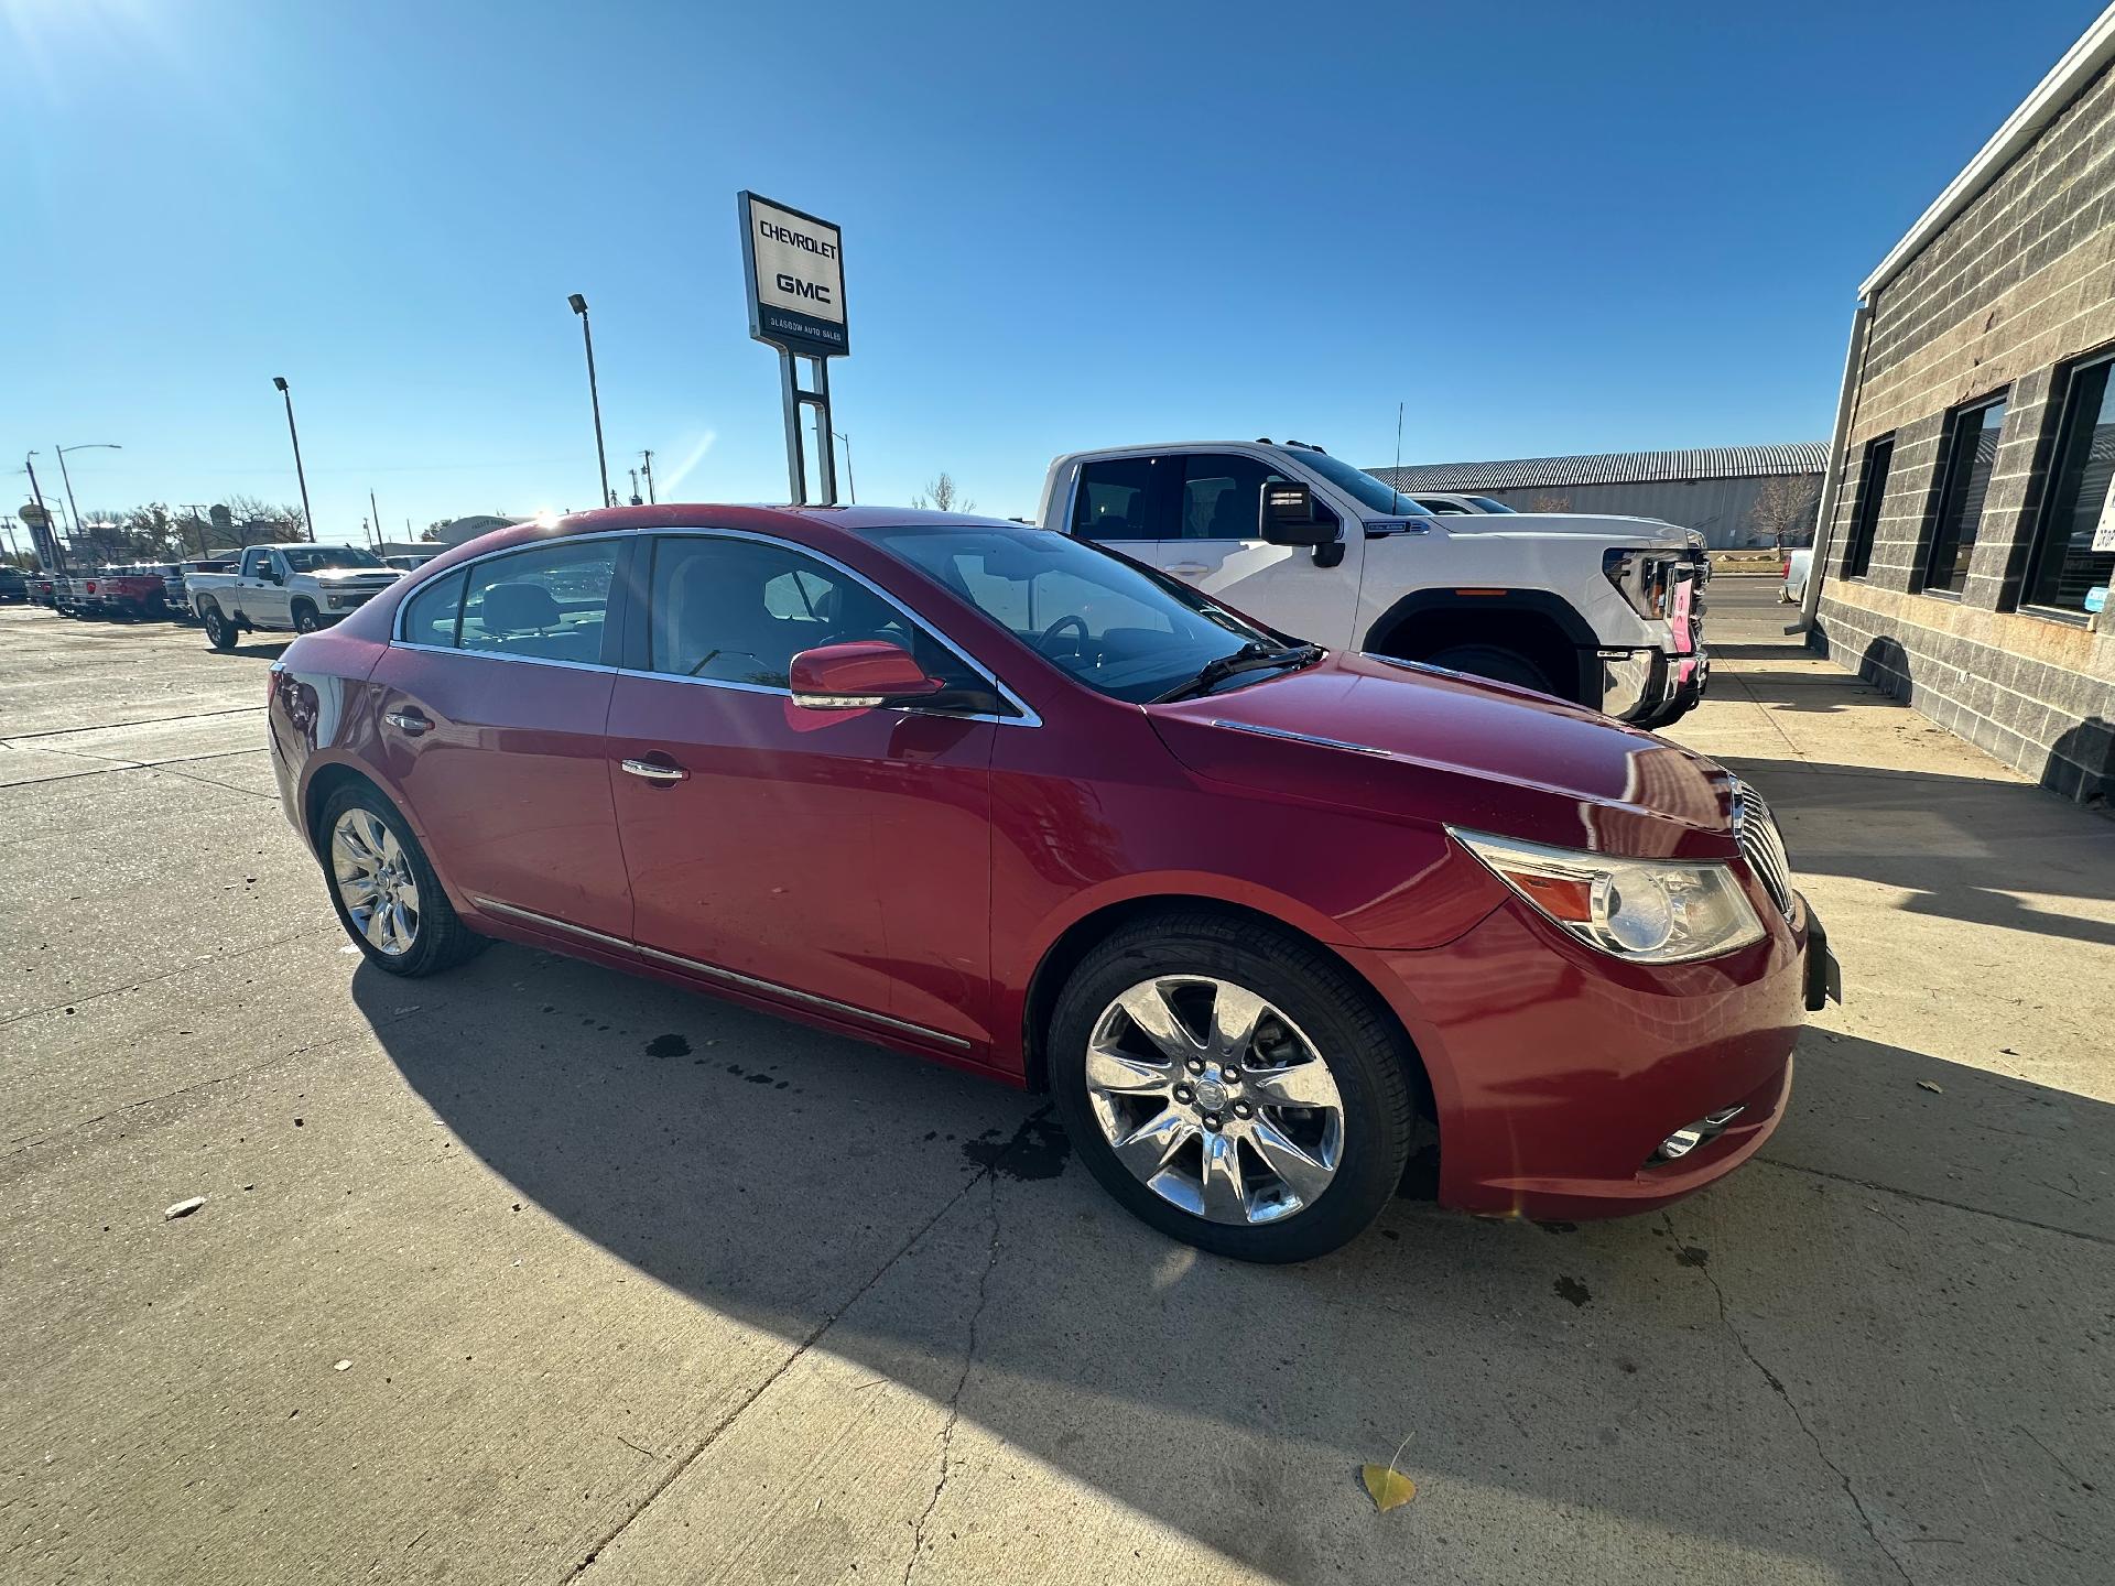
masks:
[[[271,746],[376,969],[505,937],[1049,1089],[1123,1205],[1250,1260],[1434,1146],[1470,1212],[1688,1195],[1832,971],[1711,761],[1005,522],[505,529],[294,641]]]

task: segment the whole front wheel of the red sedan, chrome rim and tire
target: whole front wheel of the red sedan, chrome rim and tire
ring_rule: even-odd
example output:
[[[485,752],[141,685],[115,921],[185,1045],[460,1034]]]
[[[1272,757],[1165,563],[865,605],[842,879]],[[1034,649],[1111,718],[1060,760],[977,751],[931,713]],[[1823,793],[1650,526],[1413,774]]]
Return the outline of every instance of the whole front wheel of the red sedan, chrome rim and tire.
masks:
[[[1328,1254],[1411,1155],[1415,1055],[1313,943],[1208,911],[1125,926],[1066,981],[1051,1089],[1127,1212],[1239,1260]]]

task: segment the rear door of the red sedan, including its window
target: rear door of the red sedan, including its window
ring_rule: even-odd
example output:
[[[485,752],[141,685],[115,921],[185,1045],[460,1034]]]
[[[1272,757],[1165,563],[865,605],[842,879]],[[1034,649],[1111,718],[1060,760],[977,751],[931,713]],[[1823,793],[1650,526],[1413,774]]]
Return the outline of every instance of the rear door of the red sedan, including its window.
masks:
[[[370,675],[381,763],[440,871],[518,924],[630,939],[603,725],[626,535],[495,552],[429,579]]]

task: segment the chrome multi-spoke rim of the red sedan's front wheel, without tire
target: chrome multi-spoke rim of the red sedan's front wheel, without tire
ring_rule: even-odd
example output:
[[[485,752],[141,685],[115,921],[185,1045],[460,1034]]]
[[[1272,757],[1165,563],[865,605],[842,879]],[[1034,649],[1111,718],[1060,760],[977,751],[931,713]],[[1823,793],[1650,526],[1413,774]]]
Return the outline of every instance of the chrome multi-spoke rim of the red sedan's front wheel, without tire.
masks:
[[[1277,1222],[1343,1159],[1343,1098],[1292,1019],[1233,981],[1157,975],[1087,1043],[1087,1102],[1117,1161],[1208,1222]]]

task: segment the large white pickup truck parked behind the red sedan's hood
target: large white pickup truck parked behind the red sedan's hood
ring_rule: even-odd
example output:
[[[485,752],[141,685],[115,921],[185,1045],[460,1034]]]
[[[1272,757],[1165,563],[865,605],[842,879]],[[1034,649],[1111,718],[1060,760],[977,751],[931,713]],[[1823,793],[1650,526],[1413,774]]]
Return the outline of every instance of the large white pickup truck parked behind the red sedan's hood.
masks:
[[[1641,727],[1703,698],[1700,537],[1652,518],[1434,516],[1301,442],[1068,453],[1045,529],[1280,632],[1555,694]]]

